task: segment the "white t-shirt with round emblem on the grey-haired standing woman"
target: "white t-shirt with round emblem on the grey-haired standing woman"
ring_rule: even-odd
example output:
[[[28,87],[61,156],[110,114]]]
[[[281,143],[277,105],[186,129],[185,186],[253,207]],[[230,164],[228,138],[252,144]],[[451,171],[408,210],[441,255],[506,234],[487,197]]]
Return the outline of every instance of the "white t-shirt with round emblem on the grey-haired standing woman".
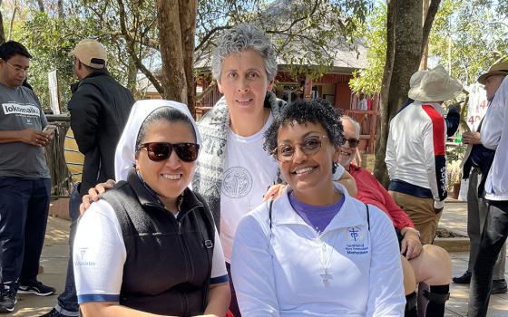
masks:
[[[270,113],[263,128],[247,138],[231,130],[228,135],[220,189],[220,240],[228,263],[239,221],[261,204],[277,180],[278,162],[263,149],[263,133],[272,121]]]

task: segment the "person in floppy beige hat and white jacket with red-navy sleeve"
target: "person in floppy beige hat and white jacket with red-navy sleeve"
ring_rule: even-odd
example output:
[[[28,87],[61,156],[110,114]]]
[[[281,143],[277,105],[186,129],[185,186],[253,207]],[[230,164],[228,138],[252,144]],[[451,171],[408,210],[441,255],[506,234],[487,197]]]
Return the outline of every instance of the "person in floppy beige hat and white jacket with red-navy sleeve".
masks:
[[[390,194],[420,231],[422,244],[432,244],[445,206],[446,123],[441,103],[457,96],[462,84],[441,65],[416,72],[409,90],[414,101],[390,121],[386,167]]]

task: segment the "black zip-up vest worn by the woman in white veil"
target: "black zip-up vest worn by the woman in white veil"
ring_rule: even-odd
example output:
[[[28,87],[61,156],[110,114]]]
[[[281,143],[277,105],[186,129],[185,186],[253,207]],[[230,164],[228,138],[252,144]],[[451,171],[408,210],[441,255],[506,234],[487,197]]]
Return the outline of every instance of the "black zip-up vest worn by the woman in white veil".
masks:
[[[118,217],[127,251],[120,304],[165,315],[202,314],[215,232],[202,197],[185,189],[175,218],[131,172],[103,199]]]

